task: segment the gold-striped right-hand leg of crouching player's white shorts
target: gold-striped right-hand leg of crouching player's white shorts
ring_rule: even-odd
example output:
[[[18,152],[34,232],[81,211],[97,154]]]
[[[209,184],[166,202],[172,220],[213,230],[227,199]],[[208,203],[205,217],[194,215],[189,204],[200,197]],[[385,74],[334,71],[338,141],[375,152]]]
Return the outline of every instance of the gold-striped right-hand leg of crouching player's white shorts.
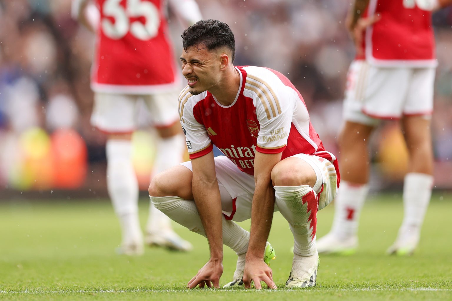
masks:
[[[319,195],[319,210],[325,208],[336,197],[338,183],[337,173],[333,163],[329,160],[304,153],[290,158],[298,158],[309,164],[315,172],[315,184],[312,189]]]

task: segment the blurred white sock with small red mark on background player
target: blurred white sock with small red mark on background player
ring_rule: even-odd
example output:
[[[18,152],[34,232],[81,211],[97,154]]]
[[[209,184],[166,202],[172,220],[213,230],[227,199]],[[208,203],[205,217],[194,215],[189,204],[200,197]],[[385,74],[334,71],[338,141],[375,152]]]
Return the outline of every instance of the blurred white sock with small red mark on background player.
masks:
[[[368,191],[367,184],[341,181],[334,199],[334,220],[330,233],[339,239],[357,235],[359,216]]]

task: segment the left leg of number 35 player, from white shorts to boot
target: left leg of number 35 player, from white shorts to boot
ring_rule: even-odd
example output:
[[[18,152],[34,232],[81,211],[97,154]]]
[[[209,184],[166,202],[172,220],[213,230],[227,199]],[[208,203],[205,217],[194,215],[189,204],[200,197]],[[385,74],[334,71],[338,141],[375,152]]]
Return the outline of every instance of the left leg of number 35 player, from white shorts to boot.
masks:
[[[121,225],[122,243],[118,251],[127,255],[143,252],[138,182],[132,165],[135,103],[136,96],[95,93],[91,116],[91,123],[108,134],[107,190]]]

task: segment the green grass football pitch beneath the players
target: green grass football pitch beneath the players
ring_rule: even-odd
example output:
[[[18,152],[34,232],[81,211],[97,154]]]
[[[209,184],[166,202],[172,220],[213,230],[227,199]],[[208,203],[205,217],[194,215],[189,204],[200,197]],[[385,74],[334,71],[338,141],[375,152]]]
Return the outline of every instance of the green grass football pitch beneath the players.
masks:
[[[330,229],[334,206],[319,212],[317,236]],[[147,218],[140,202],[141,223]],[[411,257],[385,255],[402,219],[400,194],[369,200],[355,255],[321,255],[317,286],[288,290],[292,236],[275,213],[269,241],[278,291],[194,289],[185,286],[208,259],[206,240],[175,225],[191,253],[146,248],[141,257],[116,255],[119,226],[108,200],[0,203],[0,300],[452,300],[452,194],[436,193]],[[249,228],[249,222],[243,226]],[[231,281],[235,254],[225,248],[221,284]]]

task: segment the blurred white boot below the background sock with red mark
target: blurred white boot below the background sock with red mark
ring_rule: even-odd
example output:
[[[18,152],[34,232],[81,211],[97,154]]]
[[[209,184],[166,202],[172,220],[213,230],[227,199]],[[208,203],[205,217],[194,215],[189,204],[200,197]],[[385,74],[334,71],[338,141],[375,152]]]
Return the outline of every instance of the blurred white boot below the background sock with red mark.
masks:
[[[358,248],[358,236],[348,236],[339,238],[334,233],[330,232],[327,235],[320,237],[315,242],[317,251],[324,254],[339,254],[339,255],[351,255],[356,252]]]

